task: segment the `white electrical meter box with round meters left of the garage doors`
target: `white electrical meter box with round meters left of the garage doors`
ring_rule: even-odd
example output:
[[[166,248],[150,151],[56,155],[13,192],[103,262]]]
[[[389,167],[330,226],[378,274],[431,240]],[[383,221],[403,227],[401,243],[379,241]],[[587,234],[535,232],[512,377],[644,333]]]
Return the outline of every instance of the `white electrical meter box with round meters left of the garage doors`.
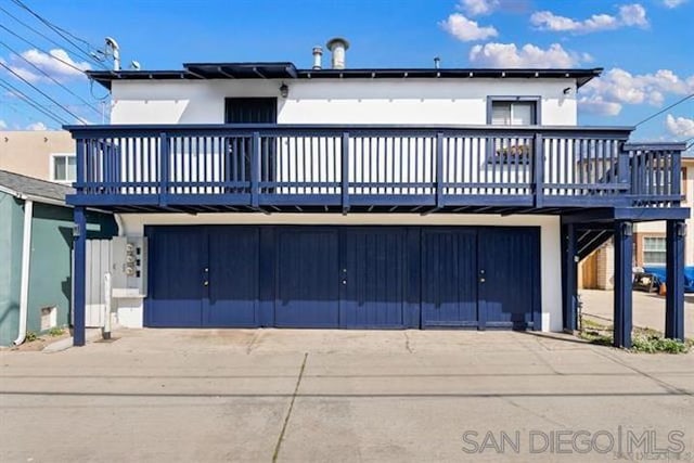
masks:
[[[146,296],[147,239],[114,236],[111,246],[113,297]]]

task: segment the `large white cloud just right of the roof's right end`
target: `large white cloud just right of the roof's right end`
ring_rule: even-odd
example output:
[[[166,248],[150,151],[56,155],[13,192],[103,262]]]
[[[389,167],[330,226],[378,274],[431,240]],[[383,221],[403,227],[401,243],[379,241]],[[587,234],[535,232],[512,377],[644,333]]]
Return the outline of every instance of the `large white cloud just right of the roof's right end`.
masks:
[[[669,69],[632,75],[616,67],[588,82],[581,89],[583,97],[579,103],[586,111],[614,116],[620,113],[624,104],[660,106],[668,94],[691,92],[694,92],[694,76],[681,78]]]

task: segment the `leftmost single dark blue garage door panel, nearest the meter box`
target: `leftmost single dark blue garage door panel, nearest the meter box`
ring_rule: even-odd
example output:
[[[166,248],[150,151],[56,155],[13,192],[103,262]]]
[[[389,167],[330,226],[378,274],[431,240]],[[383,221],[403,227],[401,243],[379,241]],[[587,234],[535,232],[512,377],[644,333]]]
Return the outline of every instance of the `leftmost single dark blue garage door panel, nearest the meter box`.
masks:
[[[205,235],[194,228],[147,230],[150,295],[145,324],[200,327],[204,297]]]

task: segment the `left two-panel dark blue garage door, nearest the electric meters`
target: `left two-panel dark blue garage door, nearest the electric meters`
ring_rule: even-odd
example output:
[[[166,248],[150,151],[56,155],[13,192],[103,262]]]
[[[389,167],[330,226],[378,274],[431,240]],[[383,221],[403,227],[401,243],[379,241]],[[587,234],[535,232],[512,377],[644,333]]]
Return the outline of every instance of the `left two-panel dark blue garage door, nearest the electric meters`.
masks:
[[[258,229],[154,227],[145,325],[257,326]]]

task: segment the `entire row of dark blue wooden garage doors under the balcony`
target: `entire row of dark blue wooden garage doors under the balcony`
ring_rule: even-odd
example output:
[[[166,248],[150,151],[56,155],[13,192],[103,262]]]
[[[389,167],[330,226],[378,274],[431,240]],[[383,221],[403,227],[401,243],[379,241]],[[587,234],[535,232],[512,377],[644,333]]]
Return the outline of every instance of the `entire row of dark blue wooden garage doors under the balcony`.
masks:
[[[540,327],[539,229],[147,227],[147,326]]]

